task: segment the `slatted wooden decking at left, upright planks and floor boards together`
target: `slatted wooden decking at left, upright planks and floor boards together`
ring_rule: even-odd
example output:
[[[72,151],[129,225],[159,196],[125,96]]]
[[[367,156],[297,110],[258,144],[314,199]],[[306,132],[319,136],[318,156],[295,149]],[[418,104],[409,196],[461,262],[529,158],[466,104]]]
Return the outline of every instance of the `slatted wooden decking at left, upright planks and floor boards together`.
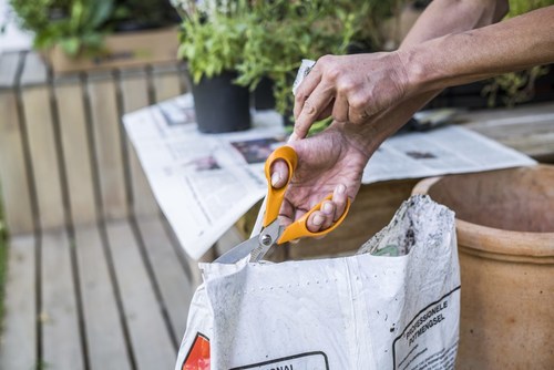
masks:
[[[54,78],[33,53],[0,59],[0,369],[173,368],[199,274],[120,117],[186,86],[182,65]]]

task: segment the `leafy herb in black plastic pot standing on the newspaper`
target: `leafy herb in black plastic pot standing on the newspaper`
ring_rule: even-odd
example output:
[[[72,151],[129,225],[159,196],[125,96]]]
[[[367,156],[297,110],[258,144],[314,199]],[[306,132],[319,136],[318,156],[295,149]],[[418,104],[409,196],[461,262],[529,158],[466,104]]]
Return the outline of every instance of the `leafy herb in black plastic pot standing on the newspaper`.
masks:
[[[249,1],[172,3],[183,18],[178,56],[188,65],[198,130],[220,133],[249,129],[248,89],[234,83],[244,58]]]

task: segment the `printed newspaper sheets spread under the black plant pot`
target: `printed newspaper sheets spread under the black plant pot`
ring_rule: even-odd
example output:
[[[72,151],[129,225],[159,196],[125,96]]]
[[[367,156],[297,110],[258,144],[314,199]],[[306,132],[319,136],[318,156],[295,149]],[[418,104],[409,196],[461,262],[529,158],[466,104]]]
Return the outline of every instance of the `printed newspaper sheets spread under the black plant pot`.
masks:
[[[189,94],[123,117],[154,196],[194,259],[266,193],[264,162],[287,137],[275,112],[258,112],[253,121],[245,132],[202,134]],[[387,140],[369,161],[362,183],[534,163],[480,134],[447,126]]]

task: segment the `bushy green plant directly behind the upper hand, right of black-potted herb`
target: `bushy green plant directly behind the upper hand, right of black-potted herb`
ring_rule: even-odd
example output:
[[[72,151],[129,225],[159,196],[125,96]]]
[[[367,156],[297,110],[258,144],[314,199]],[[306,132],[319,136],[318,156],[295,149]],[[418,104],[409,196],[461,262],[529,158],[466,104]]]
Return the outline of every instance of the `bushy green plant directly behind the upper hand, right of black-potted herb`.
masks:
[[[290,88],[302,59],[343,54],[377,19],[392,14],[399,1],[259,1],[248,18],[244,56],[238,63],[238,83],[255,89],[261,78],[275,83],[276,109],[290,112]],[[377,31],[376,31],[377,32]],[[380,42],[375,35],[371,42]]]

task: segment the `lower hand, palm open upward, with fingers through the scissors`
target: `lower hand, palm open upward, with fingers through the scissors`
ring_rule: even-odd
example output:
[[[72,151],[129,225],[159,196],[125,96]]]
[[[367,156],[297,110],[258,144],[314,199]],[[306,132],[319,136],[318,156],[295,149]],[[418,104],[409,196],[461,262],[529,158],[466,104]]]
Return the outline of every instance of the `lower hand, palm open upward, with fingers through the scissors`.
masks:
[[[332,193],[332,199],[325,201],[307,223],[312,233],[327,229],[345,212],[347,197],[356,197],[369,154],[339,125],[335,123],[316,136],[289,142],[298,155],[298,165],[279,213],[284,224],[297,220]],[[270,173],[274,187],[286,184],[288,167],[284,161],[274,163]]]

